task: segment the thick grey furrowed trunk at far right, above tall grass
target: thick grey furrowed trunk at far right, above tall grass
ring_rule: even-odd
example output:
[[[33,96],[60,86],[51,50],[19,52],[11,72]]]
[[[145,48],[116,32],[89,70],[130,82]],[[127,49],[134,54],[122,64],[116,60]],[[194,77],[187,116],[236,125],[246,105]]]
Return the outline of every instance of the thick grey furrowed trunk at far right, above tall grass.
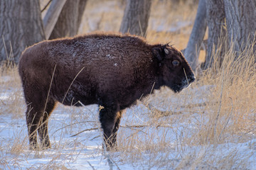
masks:
[[[245,50],[246,45],[253,45],[256,30],[255,0],[224,0],[228,38],[234,42],[234,50]],[[256,45],[253,47],[256,52]]]

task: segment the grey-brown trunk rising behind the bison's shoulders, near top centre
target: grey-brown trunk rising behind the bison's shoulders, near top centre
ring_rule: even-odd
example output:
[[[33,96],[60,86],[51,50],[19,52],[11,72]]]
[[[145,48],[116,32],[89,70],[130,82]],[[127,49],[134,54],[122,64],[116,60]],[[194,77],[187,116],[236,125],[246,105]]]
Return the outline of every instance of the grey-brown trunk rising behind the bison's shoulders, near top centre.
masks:
[[[146,37],[150,8],[151,0],[127,0],[119,31]]]

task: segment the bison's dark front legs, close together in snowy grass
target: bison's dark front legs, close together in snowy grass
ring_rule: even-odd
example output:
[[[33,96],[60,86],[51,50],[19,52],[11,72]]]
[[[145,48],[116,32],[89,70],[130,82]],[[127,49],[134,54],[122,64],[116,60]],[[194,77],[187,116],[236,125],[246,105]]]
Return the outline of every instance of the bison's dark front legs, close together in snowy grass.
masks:
[[[104,133],[107,150],[116,146],[117,129],[119,127],[119,107],[117,104],[100,106],[100,123]]]

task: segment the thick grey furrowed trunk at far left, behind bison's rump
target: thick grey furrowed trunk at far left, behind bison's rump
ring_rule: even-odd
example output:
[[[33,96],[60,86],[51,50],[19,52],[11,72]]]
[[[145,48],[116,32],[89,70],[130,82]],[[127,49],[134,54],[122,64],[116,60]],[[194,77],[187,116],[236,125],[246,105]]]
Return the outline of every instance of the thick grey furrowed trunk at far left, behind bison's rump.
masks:
[[[0,61],[18,63],[25,47],[45,39],[39,1],[1,0],[0,34]]]

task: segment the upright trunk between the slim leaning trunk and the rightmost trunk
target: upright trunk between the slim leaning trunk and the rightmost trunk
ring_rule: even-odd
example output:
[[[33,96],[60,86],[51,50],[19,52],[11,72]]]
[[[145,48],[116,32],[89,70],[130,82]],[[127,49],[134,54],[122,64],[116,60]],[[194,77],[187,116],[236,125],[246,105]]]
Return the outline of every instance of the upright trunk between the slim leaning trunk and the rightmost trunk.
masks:
[[[220,47],[218,59],[213,58],[213,54],[217,52],[218,46],[222,46],[223,36],[225,36],[225,9],[223,0],[208,0],[206,1],[207,23],[208,23],[208,47],[206,62],[204,69],[212,67],[214,60],[218,60],[220,64],[223,60],[224,47]],[[220,41],[221,40],[221,41]]]

